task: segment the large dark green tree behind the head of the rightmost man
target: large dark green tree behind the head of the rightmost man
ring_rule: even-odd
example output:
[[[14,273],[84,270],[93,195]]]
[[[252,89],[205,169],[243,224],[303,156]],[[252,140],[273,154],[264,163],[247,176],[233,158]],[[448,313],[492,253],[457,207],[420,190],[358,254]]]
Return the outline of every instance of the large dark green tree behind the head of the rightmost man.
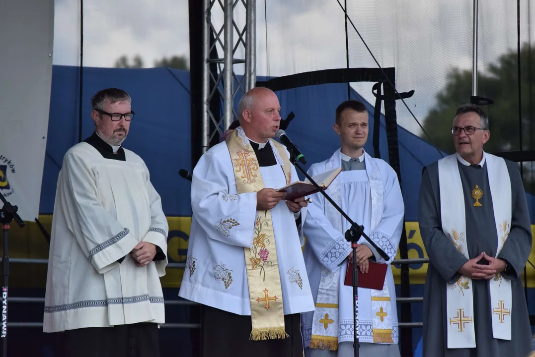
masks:
[[[521,72],[522,146],[523,149],[535,149],[535,123],[530,120],[535,114],[533,111],[535,56],[530,55],[527,44],[521,51]],[[423,124],[430,138],[424,133],[421,137],[445,152],[453,153],[450,129],[455,109],[470,101],[471,92],[471,71],[458,69],[450,71],[445,88],[437,95],[436,107],[429,112]],[[494,104],[483,107],[491,131],[491,138],[485,145],[485,150],[487,152],[519,150],[516,51],[503,54],[495,64],[488,67],[487,75],[478,75],[478,95],[494,100]]]

